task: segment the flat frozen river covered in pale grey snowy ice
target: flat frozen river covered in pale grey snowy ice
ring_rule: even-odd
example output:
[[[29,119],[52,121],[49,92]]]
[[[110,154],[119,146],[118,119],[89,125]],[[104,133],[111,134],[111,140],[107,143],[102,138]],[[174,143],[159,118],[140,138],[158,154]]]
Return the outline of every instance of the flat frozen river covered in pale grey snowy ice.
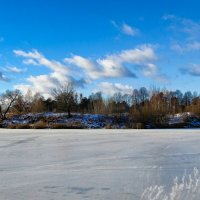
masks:
[[[0,130],[1,200],[197,200],[198,170],[200,130]]]

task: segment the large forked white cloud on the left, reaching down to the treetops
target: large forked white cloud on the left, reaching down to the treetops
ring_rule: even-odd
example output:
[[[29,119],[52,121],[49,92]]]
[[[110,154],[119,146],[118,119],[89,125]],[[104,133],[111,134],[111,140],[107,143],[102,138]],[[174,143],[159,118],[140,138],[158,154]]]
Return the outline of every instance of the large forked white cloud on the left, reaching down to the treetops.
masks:
[[[52,89],[55,87],[65,85],[69,82],[79,87],[83,87],[85,84],[85,81],[82,79],[74,79],[70,75],[70,71],[65,64],[62,64],[59,61],[49,60],[37,50],[30,52],[14,50],[13,52],[17,56],[23,57],[23,63],[26,65],[44,66],[52,71],[49,74],[28,77],[26,80],[29,84],[15,85],[15,88],[21,89],[24,93],[30,89],[33,93],[39,92],[45,97],[49,97],[51,96]]]

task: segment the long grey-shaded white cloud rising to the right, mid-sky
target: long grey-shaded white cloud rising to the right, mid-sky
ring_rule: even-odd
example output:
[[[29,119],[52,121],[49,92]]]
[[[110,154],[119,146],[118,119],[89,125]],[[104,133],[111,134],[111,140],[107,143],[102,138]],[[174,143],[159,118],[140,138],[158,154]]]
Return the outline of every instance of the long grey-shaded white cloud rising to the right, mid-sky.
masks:
[[[72,56],[64,61],[84,70],[90,79],[133,77],[133,69],[137,68],[144,76],[155,76],[158,73],[157,66],[153,63],[157,56],[153,47],[142,45],[135,49],[121,51],[117,54],[105,56],[94,61],[81,57]],[[126,64],[130,65],[128,69]]]

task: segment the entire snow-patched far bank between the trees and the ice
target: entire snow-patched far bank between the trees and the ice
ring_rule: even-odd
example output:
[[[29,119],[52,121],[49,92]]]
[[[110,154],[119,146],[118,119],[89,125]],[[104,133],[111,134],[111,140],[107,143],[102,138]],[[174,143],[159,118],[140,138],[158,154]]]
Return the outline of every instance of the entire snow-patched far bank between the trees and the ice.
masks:
[[[129,115],[100,115],[73,113],[68,117],[67,113],[29,113],[15,115],[1,124],[3,128],[79,128],[79,129],[124,129],[124,128],[200,128],[200,118],[192,113],[178,113],[167,115],[160,124],[147,124],[134,121]]]

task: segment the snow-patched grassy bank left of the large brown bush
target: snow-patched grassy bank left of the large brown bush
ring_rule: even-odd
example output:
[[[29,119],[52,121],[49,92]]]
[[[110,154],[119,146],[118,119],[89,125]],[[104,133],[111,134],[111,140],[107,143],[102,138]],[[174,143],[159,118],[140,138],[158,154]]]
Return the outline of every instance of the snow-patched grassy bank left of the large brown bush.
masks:
[[[79,114],[74,113],[72,117],[68,117],[67,113],[29,113],[24,115],[16,115],[8,120],[4,120],[2,126],[5,128],[12,128],[12,125],[33,125],[41,122],[44,128],[52,128],[53,125],[67,125],[74,128],[125,128],[128,121],[128,116],[121,115],[106,116],[100,114]]]

